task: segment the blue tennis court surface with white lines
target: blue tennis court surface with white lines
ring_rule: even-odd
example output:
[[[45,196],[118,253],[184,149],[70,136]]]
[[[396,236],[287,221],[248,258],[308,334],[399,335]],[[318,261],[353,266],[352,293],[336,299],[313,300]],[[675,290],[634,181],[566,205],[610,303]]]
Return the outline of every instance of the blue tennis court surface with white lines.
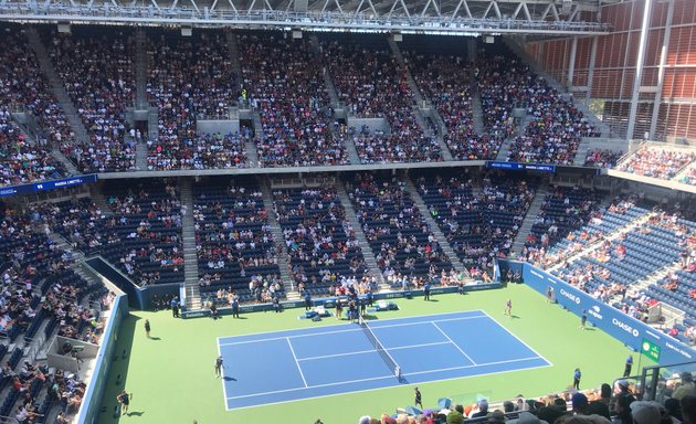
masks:
[[[481,310],[369,327],[402,381],[357,324],[219,338],[228,410],[550,365]]]

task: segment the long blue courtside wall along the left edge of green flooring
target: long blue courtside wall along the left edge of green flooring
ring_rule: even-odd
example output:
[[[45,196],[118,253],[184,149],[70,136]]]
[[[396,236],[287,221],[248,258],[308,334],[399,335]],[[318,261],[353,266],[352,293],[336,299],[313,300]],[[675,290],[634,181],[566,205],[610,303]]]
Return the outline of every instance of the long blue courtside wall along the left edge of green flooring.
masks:
[[[102,398],[108,381],[108,373],[114,361],[114,350],[116,349],[116,340],[120,324],[128,316],[128,299],[125,295],[117,296],[112,308],[107,326],[104,328],[102,337],[102,346],[94,362],[94,373],[85,392],[82,407],[77,414],[75,422],[77,424],[97,423],[99,418],[99,409],[102,406]]]

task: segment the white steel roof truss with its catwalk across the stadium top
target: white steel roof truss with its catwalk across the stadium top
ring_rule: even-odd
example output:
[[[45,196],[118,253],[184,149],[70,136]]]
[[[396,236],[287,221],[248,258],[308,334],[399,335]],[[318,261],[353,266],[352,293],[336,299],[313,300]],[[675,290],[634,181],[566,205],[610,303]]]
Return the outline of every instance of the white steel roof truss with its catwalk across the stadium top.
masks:
[[[452,35],[598,35],[600,0],[0,0],[0,20]]]

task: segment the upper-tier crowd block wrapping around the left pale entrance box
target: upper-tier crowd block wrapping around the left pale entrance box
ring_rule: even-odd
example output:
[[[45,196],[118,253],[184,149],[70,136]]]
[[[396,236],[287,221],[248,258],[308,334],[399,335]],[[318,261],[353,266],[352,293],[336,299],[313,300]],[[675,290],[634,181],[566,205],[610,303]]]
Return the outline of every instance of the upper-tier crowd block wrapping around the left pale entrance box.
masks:
[[[200,118],[229,119],[240,96],[221,31],[197,31],[193,38],[157,32],[148,46],[147,93],[159,113],[158,136],[149,139],[150,170],[239,168],[246,165],[247,136],[201,134]]]

